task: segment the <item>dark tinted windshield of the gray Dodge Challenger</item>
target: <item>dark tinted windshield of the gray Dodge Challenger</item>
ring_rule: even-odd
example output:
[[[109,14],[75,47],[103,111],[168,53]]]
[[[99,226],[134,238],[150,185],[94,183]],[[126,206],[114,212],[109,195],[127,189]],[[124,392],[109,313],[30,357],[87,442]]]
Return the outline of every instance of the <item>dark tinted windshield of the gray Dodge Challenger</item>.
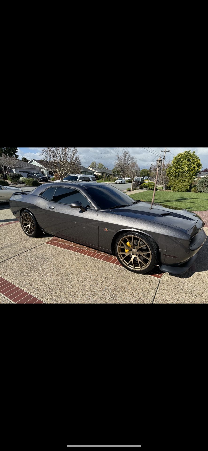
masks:
[[[114,186],[89,186],[86,188],[86,191],[101,210],[132,205],[134,203],[132,198]]]

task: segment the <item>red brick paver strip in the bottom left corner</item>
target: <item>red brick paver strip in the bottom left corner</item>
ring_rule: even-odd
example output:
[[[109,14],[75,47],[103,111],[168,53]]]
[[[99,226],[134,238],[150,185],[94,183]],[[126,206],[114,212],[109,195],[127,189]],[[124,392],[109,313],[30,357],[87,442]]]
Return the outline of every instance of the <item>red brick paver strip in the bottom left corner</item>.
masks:
[[[13,304],[46,304],[42,299],[31,295],[4,277],[0,277],[0,295],[9,299]]]

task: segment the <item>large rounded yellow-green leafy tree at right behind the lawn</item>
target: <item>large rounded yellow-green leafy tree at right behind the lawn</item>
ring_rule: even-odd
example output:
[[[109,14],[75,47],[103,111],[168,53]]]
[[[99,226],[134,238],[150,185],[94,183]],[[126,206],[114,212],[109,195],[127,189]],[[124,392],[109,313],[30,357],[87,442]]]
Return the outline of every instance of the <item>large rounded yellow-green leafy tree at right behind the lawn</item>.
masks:
[[[171,166],[167,170],[171,189],[173,191],[188,191],[201,169],[202,164],[195,151],[186,150],[178,153],[174,156]]]

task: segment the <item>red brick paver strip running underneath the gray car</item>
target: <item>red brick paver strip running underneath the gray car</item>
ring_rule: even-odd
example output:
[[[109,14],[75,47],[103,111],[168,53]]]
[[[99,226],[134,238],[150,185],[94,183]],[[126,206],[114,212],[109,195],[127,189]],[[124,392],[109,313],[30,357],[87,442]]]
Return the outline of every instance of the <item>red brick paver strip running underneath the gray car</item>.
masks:
[[[83,246],[82,244],[73,243],[72,241],[68,241],[67,239],[58,238],[53,236],[46,244],[51,244],[51,246],[56,246],[61,249],[66,249],[72,252],[81,253],[83,255],[87,255],[88,257],[97,258],[98,260],[102,260],[102,262],[112,263],[113,265],[121,266],[123,265],[118,261],[117,257],[112,254],[98,251],[97,249],[92,249],[87,246]],[[153,271],[148,273],[148,276],[157,277],[157,279],[161,279],[164,272],[161,272],[159,267],[154,267]]]

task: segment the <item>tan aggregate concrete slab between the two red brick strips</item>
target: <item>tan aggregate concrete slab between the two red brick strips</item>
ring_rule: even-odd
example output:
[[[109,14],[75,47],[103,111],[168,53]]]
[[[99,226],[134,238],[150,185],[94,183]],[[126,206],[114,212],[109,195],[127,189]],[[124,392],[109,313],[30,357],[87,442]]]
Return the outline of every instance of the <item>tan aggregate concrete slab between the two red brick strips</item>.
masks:
[[[47,244],[2,262],[0,273],[52,304],[151,304],[159,283],[155,277],[138,280],[125,268]]]

